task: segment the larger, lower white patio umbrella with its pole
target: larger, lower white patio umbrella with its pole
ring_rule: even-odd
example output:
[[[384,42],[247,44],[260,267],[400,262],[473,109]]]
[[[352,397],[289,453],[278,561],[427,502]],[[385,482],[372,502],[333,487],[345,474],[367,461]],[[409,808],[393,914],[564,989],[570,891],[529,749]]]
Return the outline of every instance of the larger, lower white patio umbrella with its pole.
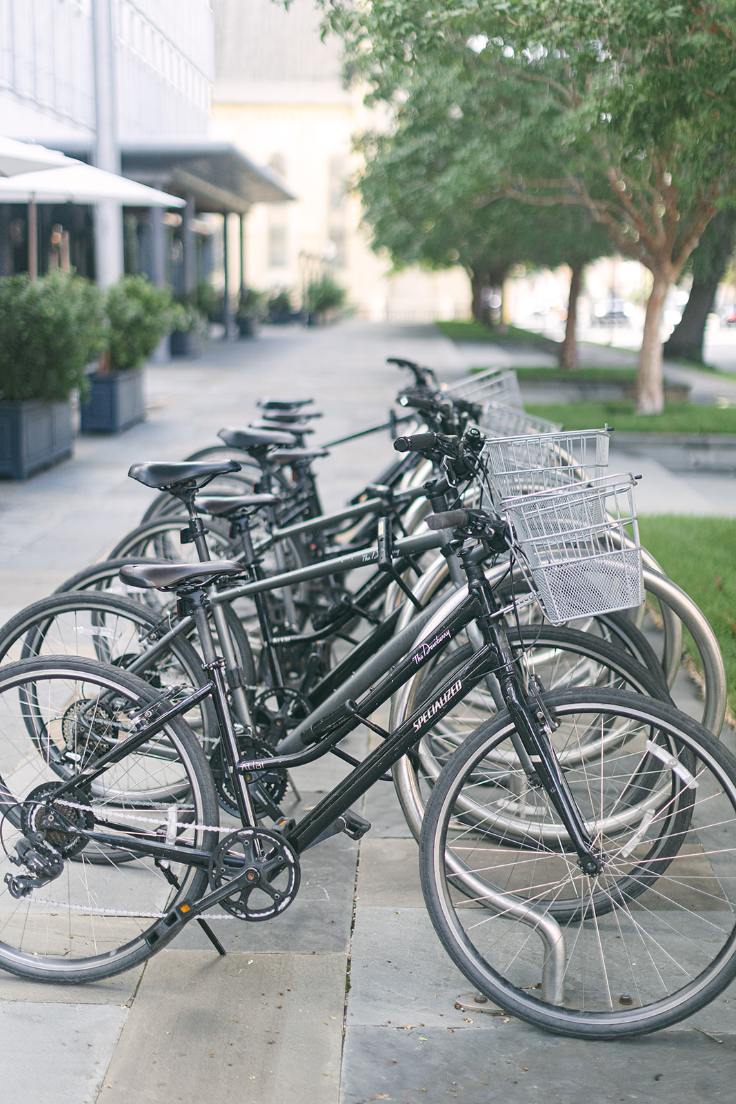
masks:
[[[82,161],[68,166],[23,172],[0,180],[0,203],[29,204],[29,274],[36,276],[36,203],[104,203],[113,201],[125,206],[185,206],[186,201],[137,180],[105,172]]]

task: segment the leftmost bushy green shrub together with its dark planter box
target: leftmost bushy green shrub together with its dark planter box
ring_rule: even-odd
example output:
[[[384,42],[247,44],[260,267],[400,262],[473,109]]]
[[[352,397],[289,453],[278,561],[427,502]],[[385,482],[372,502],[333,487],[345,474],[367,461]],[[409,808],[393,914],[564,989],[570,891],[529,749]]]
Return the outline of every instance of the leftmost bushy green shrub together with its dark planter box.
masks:
[[[0,279],[0,475],[25,479],[72,455],[71,396],[105,341],[94,284],[61,272]]]

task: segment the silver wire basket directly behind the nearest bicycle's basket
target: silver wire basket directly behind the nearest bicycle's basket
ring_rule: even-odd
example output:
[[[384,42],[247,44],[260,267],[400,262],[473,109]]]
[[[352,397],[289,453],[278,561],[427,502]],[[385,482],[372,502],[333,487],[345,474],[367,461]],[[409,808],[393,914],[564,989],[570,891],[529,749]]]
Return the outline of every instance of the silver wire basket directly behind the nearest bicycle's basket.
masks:
[[[601,479],[608,470],[606,429],[542,433],[488,440],[484,455],[500,498]]]

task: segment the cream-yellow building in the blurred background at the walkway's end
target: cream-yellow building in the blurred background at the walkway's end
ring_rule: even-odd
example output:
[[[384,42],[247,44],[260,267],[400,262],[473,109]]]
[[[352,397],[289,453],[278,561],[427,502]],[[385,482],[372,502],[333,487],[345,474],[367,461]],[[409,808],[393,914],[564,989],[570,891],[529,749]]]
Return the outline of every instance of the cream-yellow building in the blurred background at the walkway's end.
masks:
[[[248,215],[247,282],[289,289],[298,306],[305,285],[328,273],[367,318],[465,317],[465,273],[392,274],[370,247],[350,190],[359,167],[351,140],[377,118],[360,88],[344,87],[340,44],[322,41],[314,0],[288,11],[273,0],[214,0],[213,11],[213,134],[247,149],[296,197]]]

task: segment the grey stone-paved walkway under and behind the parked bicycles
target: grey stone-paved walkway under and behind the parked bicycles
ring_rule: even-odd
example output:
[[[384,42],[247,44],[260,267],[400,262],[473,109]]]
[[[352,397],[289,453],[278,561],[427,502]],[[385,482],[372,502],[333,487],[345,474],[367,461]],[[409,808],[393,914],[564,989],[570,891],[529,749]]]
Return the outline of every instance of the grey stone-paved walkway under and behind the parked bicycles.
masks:
[[[0,616],[104,556],[136,523],[148,492],[126,478],[131,463],[180,458],[214,442],[222,424],[245,424],[263,394],[314,395],[324,411],[317,440],[383,421],[402,381],[385,363],[392,354],[425,361],[447,380],[465,371],[463,351],[433,327],[356,321],[271,330],[254,342],[213,344],[200,361],[149,370],[145,424],[119,438],[81,440],[73,461],[28,484],[0,484]],[[320,470],[326,505],[344,502],[387,453],[385,435],[337,448]],[[666,497],[672,509],[686,501],[692,512],[711,512],[708,478],[684,481],[658,468],[647,475],[643,502]],[[643,502],[640,495],[647,512]],[[736,516],[736,482],[715,505]],[[365,737],[355,741],[360,751]],[[300,768],[301,806],[340,769]],[[373,828],[360,845],[339,837],[307,853],[299,898],[284,916],[218,925],[225,958],[192,925],[143,970],[106,984],[51,988],[0,974],[2,1100],[733,1098],[736,991],[675,1030],[615,1044],[543,1034],[480,1007],[456,1009],[469,986],[427,920],[416,846],[392,787],[375,787],[364,815]]]

